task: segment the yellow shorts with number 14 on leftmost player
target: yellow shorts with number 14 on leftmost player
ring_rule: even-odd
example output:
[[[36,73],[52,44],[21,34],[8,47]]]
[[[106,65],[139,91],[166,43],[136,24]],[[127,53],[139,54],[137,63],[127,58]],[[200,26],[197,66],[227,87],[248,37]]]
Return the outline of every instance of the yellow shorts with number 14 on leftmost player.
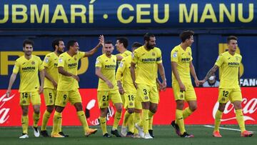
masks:
[[[33,92],[20,92],[20,102],[19,104],[21,106],[27,106],[29,105],[31,101],[32,105],[40,105],[41,104],[41,98],[38,91]]]

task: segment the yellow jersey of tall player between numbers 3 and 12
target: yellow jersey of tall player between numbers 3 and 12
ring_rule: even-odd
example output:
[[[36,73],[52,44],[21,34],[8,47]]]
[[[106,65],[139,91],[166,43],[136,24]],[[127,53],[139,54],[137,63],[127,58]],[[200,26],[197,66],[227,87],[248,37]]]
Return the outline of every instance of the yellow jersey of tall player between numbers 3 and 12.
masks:
[[[178,75],[183,84],[192,84],[189,64],[193,60],[191,47],[183,50],[180,45],[175,46],[171,51],[171,62],[177,63]],[[172,72],[172,84],[178,84]]]

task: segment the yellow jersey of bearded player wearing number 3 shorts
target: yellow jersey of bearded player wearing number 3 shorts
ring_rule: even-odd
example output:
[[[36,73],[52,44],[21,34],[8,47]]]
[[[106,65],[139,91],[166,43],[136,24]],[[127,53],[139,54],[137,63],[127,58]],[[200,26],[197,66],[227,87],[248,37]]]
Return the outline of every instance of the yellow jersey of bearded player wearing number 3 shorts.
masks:
[[[138,47],[132,54],[132,62],[136,64],[136,84],[156,86],[156,64],[162,63],[161,50]]]

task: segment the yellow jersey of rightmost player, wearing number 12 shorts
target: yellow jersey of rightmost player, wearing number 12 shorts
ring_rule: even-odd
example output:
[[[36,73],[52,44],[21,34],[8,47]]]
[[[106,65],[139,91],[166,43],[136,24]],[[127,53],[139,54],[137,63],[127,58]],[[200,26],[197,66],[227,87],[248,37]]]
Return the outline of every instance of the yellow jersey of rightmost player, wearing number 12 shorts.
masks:
[[[238,71],[242,60],[240,54],[231,55],[228,51],[224,52],[216,60],[215,65],[219,67],[221,72],[221,81],[219,88],[238,89]]]

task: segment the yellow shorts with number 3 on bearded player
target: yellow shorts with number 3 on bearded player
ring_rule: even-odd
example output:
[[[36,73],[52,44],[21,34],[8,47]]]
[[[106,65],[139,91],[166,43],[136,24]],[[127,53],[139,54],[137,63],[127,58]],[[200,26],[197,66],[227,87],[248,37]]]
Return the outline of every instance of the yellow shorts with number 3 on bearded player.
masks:
[[[151,101],[151,103],[158,104],[157,86],[149,86],[146,84],[137,84],[137,86],[136,97],[138,97],[138,101]]]

